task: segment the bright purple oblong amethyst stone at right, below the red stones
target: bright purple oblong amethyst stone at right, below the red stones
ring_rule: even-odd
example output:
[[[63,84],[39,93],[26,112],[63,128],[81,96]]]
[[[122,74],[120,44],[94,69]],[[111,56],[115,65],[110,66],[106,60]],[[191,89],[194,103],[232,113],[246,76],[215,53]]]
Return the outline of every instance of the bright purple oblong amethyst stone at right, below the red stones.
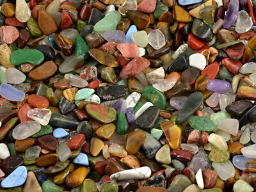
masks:
[[[226,93],[231,90],[231,84],[220,79],[210,79],[206,89],[211,92]]]

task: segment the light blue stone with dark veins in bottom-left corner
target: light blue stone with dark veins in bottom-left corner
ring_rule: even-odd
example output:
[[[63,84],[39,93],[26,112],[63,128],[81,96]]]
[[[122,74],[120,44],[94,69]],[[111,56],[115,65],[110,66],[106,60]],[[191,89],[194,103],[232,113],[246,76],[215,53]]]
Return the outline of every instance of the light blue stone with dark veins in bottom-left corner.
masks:
[[[26,166],[19,166],[1,182],[2,188],[15,188],[22,186],[27,179],[28,171]]]

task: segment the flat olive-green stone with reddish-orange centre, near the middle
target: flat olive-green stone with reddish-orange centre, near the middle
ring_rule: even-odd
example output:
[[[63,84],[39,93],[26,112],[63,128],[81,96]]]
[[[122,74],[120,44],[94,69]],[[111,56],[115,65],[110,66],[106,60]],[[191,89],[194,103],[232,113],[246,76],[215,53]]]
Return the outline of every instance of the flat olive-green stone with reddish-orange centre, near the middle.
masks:
[[[87,104],[85,109],[88,115],[104,124],[108,124],[116,120],[116,110],[113,108],[95,104]]]

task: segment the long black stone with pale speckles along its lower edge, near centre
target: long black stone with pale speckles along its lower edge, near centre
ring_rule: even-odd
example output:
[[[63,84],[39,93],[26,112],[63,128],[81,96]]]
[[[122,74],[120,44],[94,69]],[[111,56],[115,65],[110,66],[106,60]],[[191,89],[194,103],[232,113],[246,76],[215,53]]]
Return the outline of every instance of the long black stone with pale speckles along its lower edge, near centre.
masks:
[[[128,93],[128,88],[125,85],[100,86],[96,90],[96,94],[103,100],[113,100],[118,97],[123,97]]]

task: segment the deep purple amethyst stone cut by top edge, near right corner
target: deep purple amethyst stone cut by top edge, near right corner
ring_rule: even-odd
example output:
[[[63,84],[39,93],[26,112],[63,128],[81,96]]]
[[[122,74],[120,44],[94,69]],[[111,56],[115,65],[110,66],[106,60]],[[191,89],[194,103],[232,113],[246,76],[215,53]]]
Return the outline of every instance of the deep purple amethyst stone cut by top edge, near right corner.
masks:
[[[236,22],[239,11],[239,0],[230,0],[228,10],[224,17],[223,28],[229,29]]]

